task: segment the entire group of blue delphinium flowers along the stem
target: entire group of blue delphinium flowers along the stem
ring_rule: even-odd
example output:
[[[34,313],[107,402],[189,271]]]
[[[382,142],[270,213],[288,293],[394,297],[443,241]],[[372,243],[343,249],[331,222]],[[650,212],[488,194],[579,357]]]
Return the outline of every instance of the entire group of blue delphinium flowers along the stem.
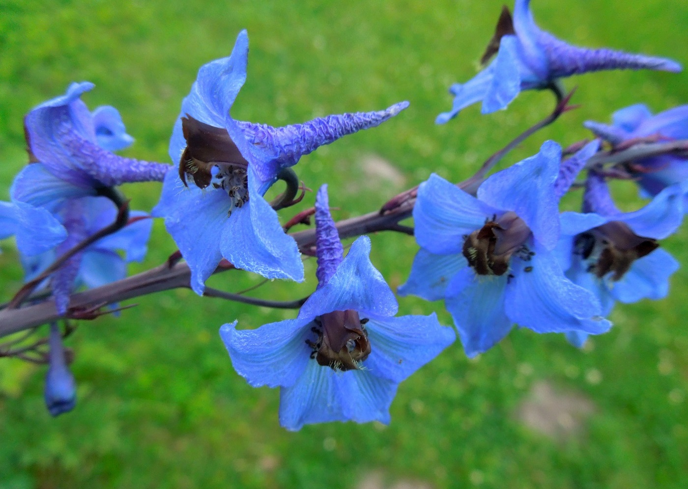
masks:
[[[453,108],[437,122],[478,101],[484,113],[504,109],[519,91],[552,88],[573,74],[680,69],[663,58],[563,43],[537,27],[529,3],[516,0],[513,17],[503,10],[483,61],[496,57],[473,80],[451,87]],[[113,107],[89,111],[80,97],[91,83],[74,83],[28,113],[30,164],[15,178],[11,202],[0,202],[0,238],[16,235],[27,280],[42,277],[69,253],[40,285],[58,314],[70,317],[70,296],[78,287],[118,281],[127,262],[144,258],[151,219],[136,211],[116,232],[74,252],[116,220],[121,203],[113,202],[114,187],[127,182],[162,182],[151,214],[164,219],[197,294],[208,292],[205,282],[223,260],[268,279],[304,280],[303,250],[279,221],[281,204],[268,202],[266,192],[303,155],[382,124],[408,102],[285,127],[235,120],[230,112],[247,63],[248,34],[242,31],[230,56],[200,68],[173,127],[173,165],[116,155],[133,138]],[[603,144],[618,152],[636,142],[688,138],[688,106],[653,116],[634,105],[614,113],[612,125],[585,126],[599,139],[579,144],[568,157],[546,141],[536,155],[475,190],[433,174],[408,194],[415,195],[413,234],[420,250],[398,293],[443,300],[467,356],[491,349],[514,325],[563,333],[581,346],[612,327],[607,317],[617,301],[667,294],[678,263],[659,240],[676,232],[687,211],[685,152],[621,162],[616,173],[596,157]],[[651,199],[647,205],[628,213],[616,208],[608,180],[619,172],[638,182]],[[585,188],[581,212],[561,212],[559,201],[576,180]],[[250,385],[281,389],[279,420],[287,429],[330,421],[388,423],[400,382],[456,334],[434,313],[396,317],[394,292],[370,261],[370,239],[358,237],[344,256],[327,185],[317,192],[314,217],[318,283],[296,318],[257,329],[237,329],[235,321],[223,325],[220,336]],[[74,406],[76,387],[54,323],[49,345],[45,402],[58,415]]]

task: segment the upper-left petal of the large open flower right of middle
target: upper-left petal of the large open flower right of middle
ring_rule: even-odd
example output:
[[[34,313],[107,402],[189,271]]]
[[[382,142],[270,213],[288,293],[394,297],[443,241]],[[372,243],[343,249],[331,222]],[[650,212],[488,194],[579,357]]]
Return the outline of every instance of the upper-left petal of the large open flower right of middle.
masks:
[[[433,173],[418,187],[413,206],[416,241],[431,253],[460,253],[464,235],[482,228],[487,217],[501,213]]]

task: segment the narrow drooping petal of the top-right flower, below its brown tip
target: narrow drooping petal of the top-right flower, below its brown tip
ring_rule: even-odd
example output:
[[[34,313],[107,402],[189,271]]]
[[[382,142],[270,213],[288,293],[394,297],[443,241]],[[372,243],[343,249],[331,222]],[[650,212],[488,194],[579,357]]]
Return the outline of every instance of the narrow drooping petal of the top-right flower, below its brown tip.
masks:
[[[516,36],[502,36],[494,63],[492,83],[482,101],[482,113],[506,109],[521,91]]]

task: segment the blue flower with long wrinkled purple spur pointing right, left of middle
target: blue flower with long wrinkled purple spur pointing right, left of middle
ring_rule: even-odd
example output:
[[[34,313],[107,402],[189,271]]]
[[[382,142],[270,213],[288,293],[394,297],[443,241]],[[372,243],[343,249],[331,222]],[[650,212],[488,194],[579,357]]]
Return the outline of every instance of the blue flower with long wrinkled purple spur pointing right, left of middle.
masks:
[[[270,127],[230,114],[246,80],[248,35],[232,54],[204,65],[182,102],[169,154],[179,172],[167,175],[153,215],[165,226],[191,268],[191,287],[204,282],[224,257],[237,268],[270,279],[303,281],[295,241],[285,234],[263,195],[281,169],[343,135],[377,126],[408,102],[385,111],[345,113],[303,124]]]

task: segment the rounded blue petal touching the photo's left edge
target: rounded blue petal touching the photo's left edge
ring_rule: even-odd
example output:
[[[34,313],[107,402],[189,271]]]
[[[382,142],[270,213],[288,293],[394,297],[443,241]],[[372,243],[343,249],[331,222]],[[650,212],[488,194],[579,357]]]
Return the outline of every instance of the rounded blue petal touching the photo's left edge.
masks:
[[[67,231],[47,210],[23,202],[0,202],[0,239],[17,235],[17,248],[31,256],[54,248]]]

